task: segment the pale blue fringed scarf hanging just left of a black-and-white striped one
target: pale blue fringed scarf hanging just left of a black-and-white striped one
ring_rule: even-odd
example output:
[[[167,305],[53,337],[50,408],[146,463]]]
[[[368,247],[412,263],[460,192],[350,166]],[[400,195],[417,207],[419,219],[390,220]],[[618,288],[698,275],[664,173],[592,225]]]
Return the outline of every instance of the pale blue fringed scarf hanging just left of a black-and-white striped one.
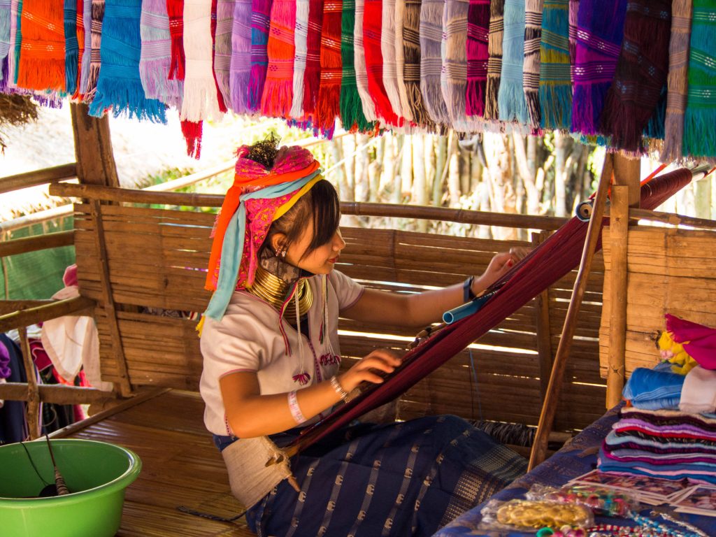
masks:
[[[528,122],[527,101],[522,84],[525,62],[525,0],[505,0],[505,35],[498,107],[500,120]]]

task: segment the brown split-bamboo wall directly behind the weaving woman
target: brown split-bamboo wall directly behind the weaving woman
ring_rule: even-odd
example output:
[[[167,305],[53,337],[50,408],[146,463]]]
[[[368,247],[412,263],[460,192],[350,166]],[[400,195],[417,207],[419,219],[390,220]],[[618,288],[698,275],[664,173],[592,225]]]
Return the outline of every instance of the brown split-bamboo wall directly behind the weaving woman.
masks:
[[[134,386],[196,390],[201,357],[195,321],[142,313],[140,309],[205,309],[209,293],[203,290],[203,281],[213,215],[101,207],[112,298],[130,382]],[[116,382],[121,375],[121,357],[112,348],[116,335],[107,317],[112,311],[101,304],[102,256],[97,255],[95,223],[89,205],[76,206],[79,286],[83,296],[100,302],[95,316],[102,375]],[[366,286],[402,292],[455,284],[467,274],[480,274],[494,253],[525,244],[384,229],[342,231],[347,248],[337,269]],[[603,270],[599,256],[579,314],[555,430],[579,429],[603,412],[604,382],[596,361]],[[575,275],[571,273],[549,289],[543,305],[533,300],[485,334],[478,348],[472,349],[475,374],[470,367],[470,351],[466,350],[416,384],[400,401],[400,417],[452,413],[536,425],[546,385],[546,379],[541,379],[541,359],[556,352]],[[541,339],[537,328],[540,322],[548,327]],[[400,326],[349,320],[340,326],[344,367],[376,347],[402,349],[415,337],[414,330]],[[542,356],[538,354],[540,348]]]

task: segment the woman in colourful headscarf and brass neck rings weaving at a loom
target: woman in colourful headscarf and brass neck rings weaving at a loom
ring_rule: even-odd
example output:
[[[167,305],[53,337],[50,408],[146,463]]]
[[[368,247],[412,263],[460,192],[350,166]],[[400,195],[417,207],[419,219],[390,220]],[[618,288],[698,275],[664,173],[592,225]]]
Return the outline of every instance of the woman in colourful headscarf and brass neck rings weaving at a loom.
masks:
[[[273,138],[238,150],[207,276],[205,425],[260,536],[430,536],[526,462],[454,416],[353,425],[294,460],[279,457],[279,478],[267,474],[267,453],[400,365],[375,350],[339,374],[339,314],[425,326],[486,289],[516,254],[499,253],[484,274],[445,289],[364,289],[334,270],[346,243],[336,191],[320,172],[308,150],[279,150]]]

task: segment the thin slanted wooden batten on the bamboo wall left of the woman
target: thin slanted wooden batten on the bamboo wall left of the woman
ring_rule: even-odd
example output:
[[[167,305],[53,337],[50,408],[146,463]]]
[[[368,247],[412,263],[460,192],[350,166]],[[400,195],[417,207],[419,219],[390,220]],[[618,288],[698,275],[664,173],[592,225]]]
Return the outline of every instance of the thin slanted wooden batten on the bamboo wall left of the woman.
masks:
[[[102,225],[102,205],[99,200],[92,200],[90,204],[92,221],[95,223],[95,244],[97,251],[100,253],[100,266],[102,274],[100,275],[102,284],[102,302],[107,315],[107,322],[110,325],[110,337],[112,338],[112,352],[115,354],[117,369],[120,374],[120,392],[122,396],[129,397],[132,395],[132,384],[130,384],[129,372],[127,371],[127,359],[125,358],[124,347],[122,347],[122,335],[120,327],[117,323],[117,309],[115,308],[115,299],[112,296],[112,284],[110,283],[110,262],[107,258],[107,242],[105,238],[105,229]]]

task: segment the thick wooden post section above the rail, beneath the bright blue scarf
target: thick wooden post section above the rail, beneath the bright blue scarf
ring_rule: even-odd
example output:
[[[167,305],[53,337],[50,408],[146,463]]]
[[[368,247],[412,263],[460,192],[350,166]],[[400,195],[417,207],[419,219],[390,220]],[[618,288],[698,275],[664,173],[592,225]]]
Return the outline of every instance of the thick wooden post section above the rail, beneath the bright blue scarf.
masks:
[[[77,178],[80,183],[119,186],[115,155],[112,153],[110,118],[92,117],[84,103],[69,103],[77,155]]]

